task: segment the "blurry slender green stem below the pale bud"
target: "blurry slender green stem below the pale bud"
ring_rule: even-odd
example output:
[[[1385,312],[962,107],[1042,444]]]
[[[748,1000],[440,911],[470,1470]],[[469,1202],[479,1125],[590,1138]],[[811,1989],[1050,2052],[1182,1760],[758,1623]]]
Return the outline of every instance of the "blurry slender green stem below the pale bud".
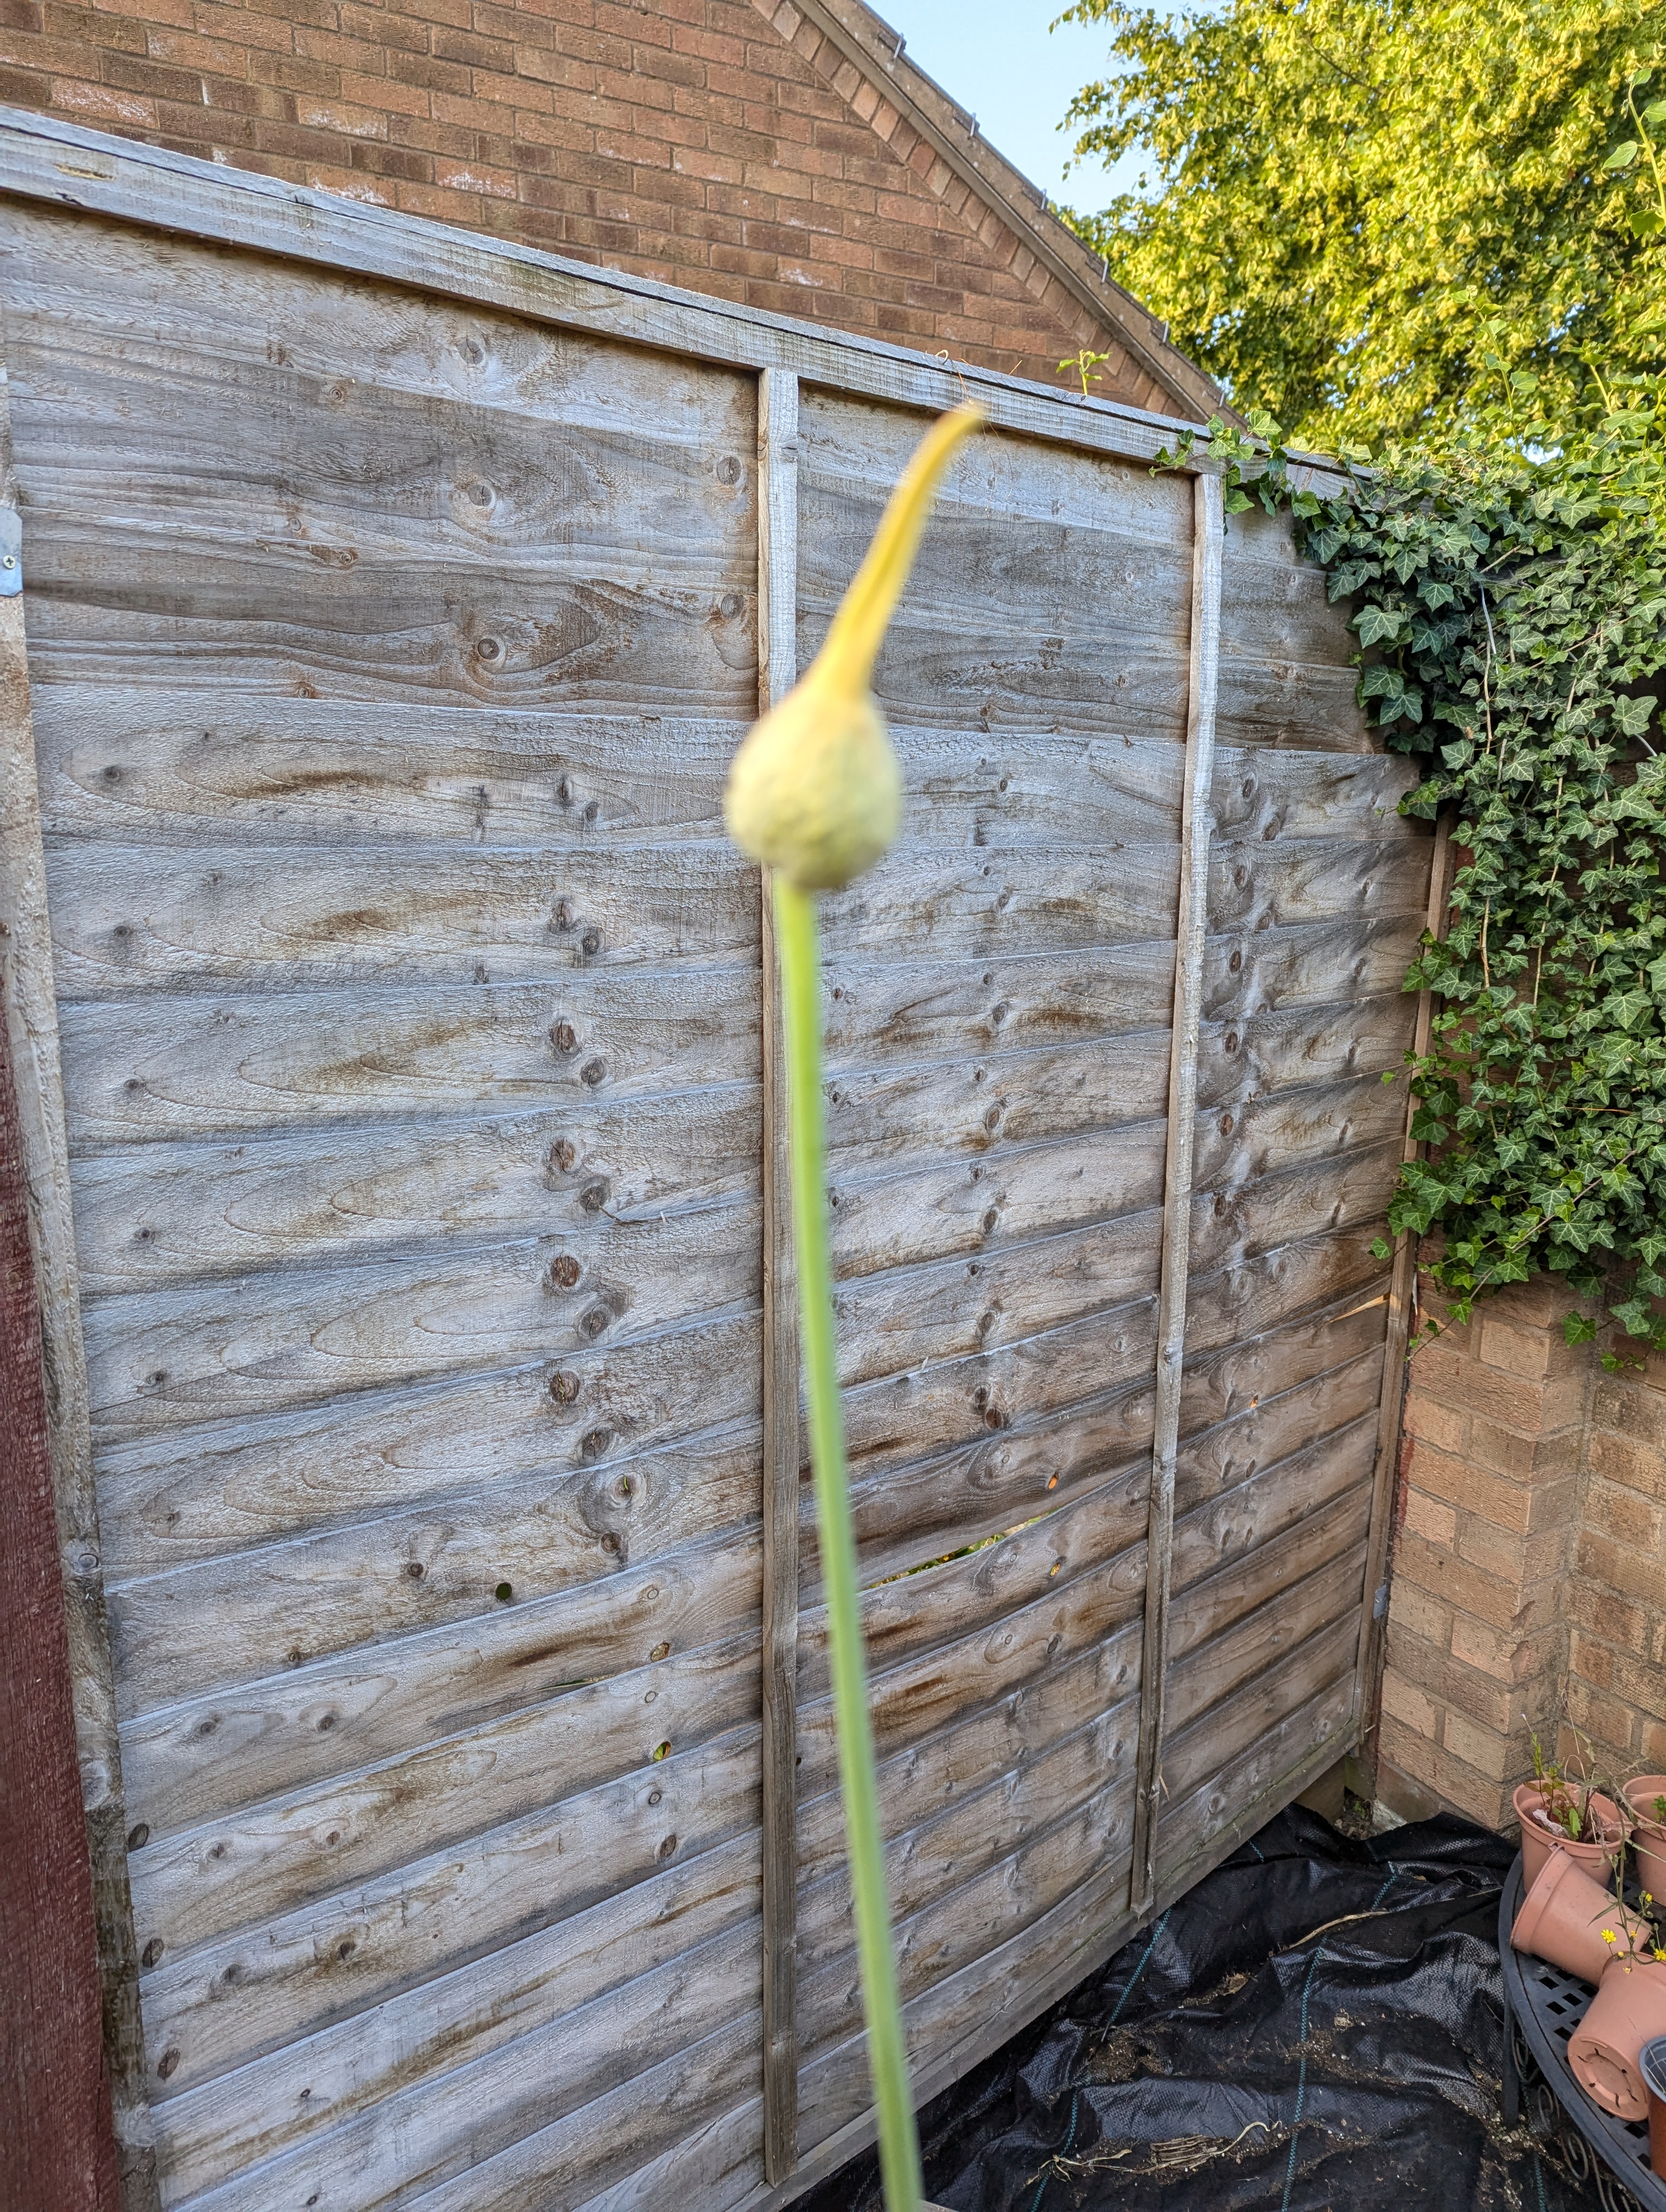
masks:
[[[810,1462],[816,1475],[821,1588],[827,1604],[839,1781],[845,1796],[845,1849],[856,1907],[856,1958],[867,2015],[867,2068],[878,2110],[878,2170],[887,2212],[920,2212],[920,2137],[907,2081],[903,2006],[885,1893],[878,1827],[874,1723],[867,1712],[867,1657],[856,1599],[856,1531],[850,1517],[845,1416],[839,1398],[832,1270],[827,1263],[827,1170],[821,1110],[821,947],[816,907],[774,876],[774,931],[788,1033],[788,1117],[792,1135],[792,1228],[799,1254],[799,1327],[810,1394]]]

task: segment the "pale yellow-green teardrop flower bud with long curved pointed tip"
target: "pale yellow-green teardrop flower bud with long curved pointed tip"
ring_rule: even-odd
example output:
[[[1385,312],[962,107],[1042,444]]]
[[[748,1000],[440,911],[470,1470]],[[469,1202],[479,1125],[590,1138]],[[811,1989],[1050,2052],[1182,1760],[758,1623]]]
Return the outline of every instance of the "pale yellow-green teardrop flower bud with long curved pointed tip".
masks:
[[[730,763],[728,834],[801,891],[843,889],[896,836],[903,774],[870,679],[943,469],[980,422],[978,407],[956,407],[925,434],[821,653]]]

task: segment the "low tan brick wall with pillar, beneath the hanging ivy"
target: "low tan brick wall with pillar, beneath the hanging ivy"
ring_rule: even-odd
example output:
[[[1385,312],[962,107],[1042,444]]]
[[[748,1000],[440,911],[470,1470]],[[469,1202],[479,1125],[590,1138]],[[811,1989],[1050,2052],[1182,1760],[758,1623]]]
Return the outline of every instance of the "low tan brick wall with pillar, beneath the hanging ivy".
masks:
[[[1666,1363],[1602,1371],[1562,1285],[1518,1285],[1412,1358],[1378,1796],[1491,1827],[1573,1728],[1666,1770]]]

